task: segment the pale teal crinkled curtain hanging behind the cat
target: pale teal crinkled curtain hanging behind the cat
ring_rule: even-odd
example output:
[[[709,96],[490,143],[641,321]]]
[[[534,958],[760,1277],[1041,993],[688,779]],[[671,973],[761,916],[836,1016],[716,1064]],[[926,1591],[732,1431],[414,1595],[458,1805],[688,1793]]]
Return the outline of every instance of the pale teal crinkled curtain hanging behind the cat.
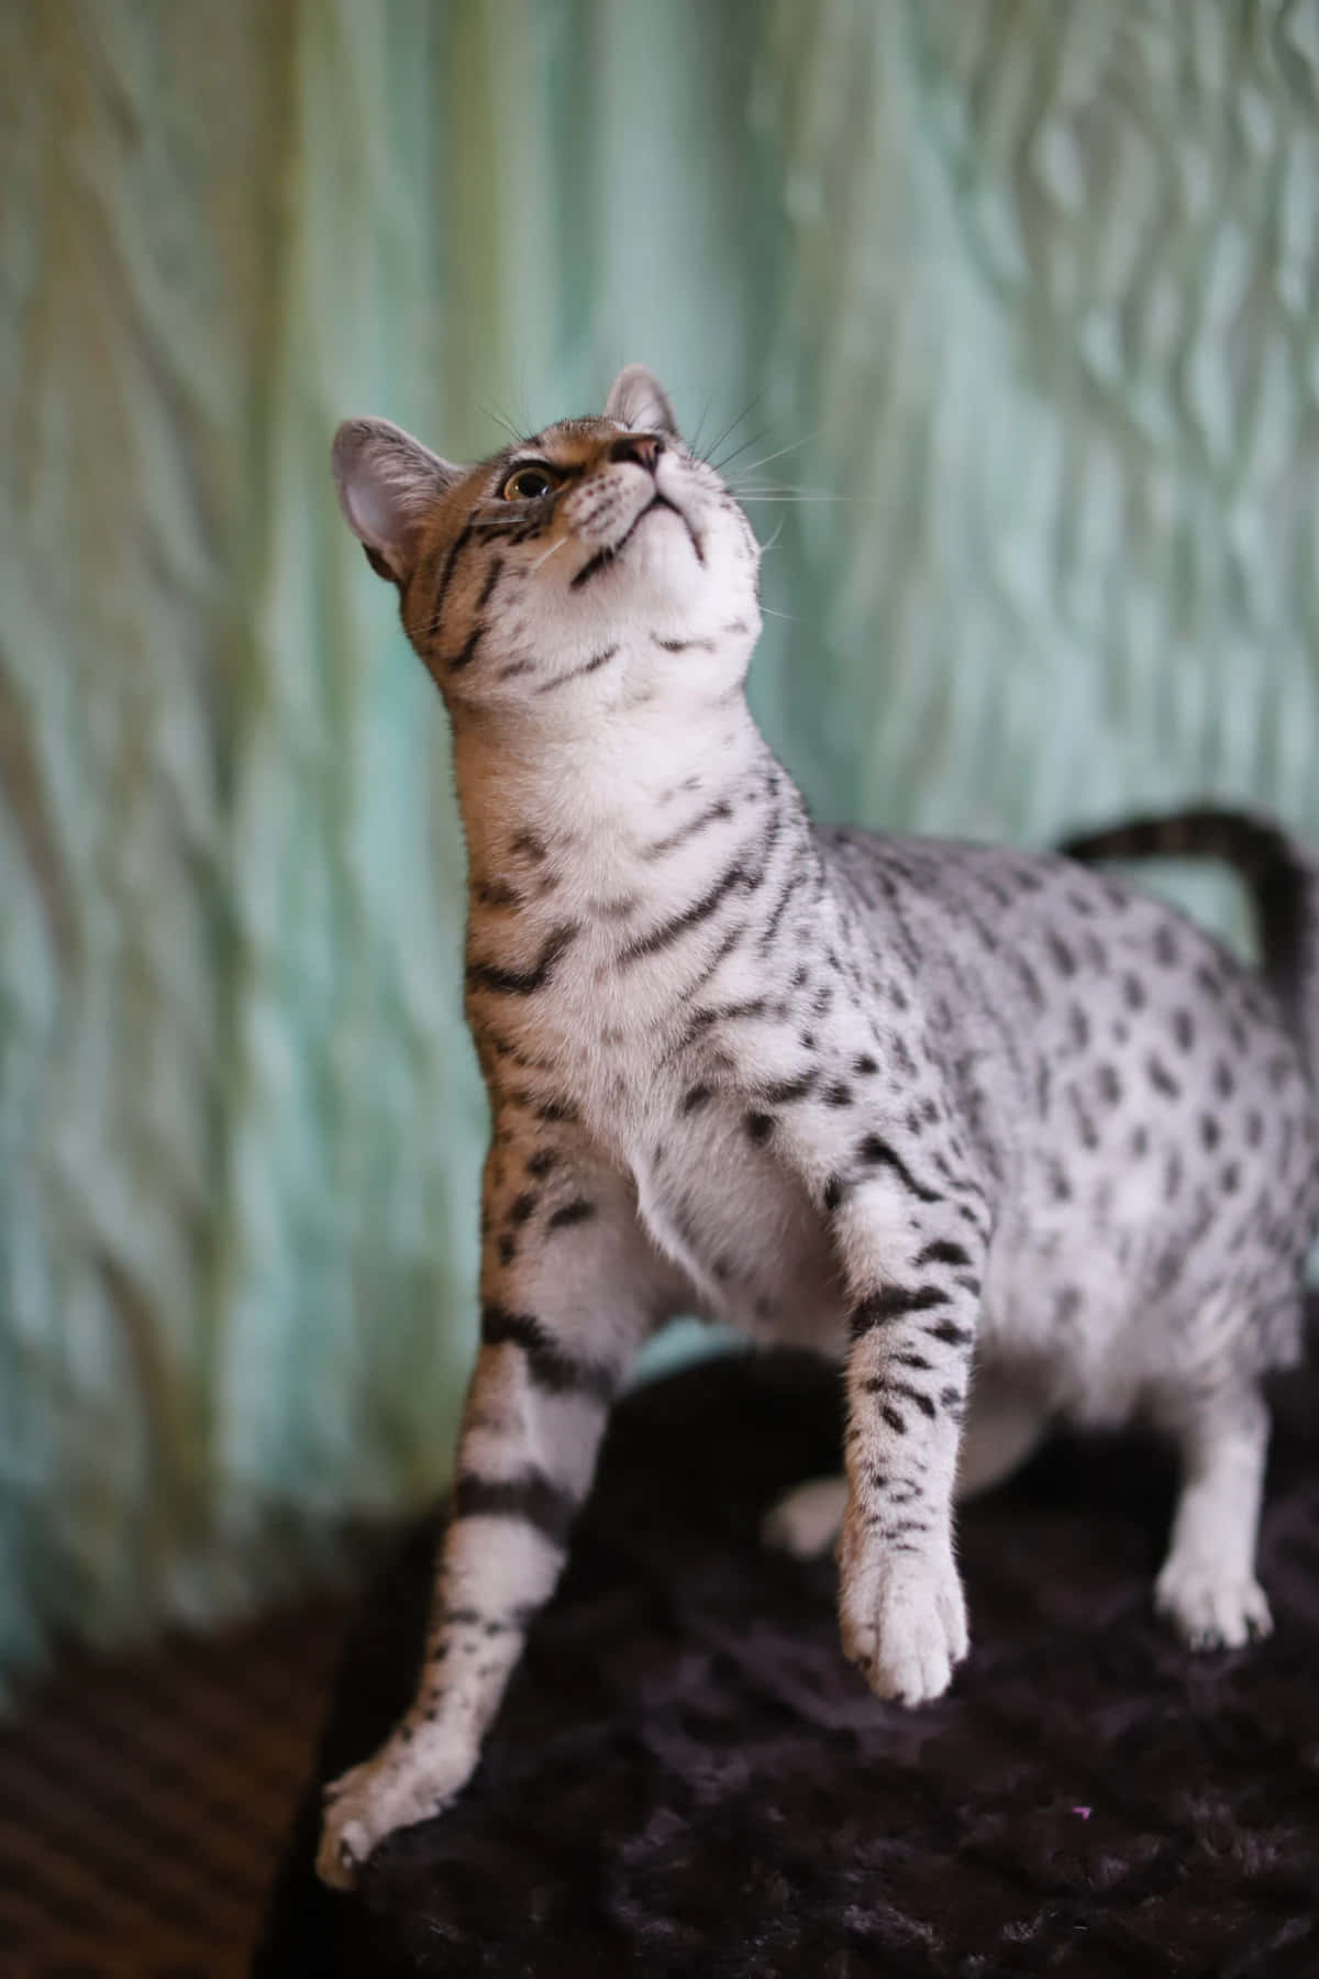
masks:
[[[1319,839],[1319,0],[8,0],[0,243],[0,1670],[451,1457],[463,847],[342,416],[645,358],[773,455],[821,815]]]

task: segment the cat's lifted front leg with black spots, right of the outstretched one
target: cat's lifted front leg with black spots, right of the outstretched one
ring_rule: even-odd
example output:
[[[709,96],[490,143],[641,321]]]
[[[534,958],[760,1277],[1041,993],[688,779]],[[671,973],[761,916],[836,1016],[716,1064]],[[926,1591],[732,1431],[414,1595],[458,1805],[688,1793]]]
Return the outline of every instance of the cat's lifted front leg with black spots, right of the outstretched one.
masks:
[[[850,1292],[838,1621],[870,1688],[922,1704],[967,1654],[953,1486],[987,1215],[971,1185],[939,1193],[880,1136],[870,1148],[835,1207]]]

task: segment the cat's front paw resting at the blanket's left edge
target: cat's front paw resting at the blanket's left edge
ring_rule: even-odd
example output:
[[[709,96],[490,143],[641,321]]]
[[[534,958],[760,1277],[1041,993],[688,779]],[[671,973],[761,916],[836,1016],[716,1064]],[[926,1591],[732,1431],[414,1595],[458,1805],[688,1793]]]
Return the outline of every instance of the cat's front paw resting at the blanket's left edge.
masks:
[[[332,1890],[350,1890],[386,1835],[439,1815],[475,1769],[477,1747],[451,1728],[421,1726],[411,1740],[396,1732],[374,1757],[324,1789],[320,1880]]]

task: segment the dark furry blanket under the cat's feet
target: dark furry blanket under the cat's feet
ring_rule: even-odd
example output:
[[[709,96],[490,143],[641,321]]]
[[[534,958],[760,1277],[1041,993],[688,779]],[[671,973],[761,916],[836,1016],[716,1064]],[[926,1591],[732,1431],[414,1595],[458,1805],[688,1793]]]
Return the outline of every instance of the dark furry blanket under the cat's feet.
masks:
[[[836,1403],[779,1358],[631,1395],[475,1783],[348,1898],[312,1789],[255,1971],[1319,1975],[1319,1377],[1274,1391],[1270,1643],[1179,1649],[1167,1461],[1058,1443],[963,1514],[971,1660],[914,1714],[844,1664],[833,1561],[757,1548]],[[362,1611],[320,1777],[407,1700],[433,1538]]]

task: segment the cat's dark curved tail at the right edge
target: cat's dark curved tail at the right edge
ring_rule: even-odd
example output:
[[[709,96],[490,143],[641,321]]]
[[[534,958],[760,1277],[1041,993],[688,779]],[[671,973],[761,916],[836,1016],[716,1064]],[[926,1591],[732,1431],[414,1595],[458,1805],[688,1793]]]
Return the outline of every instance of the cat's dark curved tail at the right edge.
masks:
[[[1082,831],[1060,851],[1096,859],[1222,859],[1250,889],[1262,974],[1319,1090],[1319,859],[1262,811],[1202,807]]]

